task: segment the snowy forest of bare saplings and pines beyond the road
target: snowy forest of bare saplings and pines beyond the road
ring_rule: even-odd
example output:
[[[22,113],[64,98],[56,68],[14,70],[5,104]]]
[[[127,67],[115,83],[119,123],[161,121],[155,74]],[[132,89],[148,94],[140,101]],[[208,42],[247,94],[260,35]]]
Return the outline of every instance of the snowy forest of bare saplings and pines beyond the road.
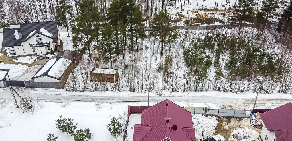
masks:
[[[71,74],[67,90],[109,87],[291,93],[291,47],[267,31],[269,20],[276,17],[276,30],[291,36],[290,2],[265,0],[260,3],[261,10],[255,10],[259,1],[238,0],[228,18],[238,27],[210,31],[176,28],[178,23],[170,13],[175,7],[187,6],[184,2],[0,0],[1,27],[24,19],[57,20],[62,27],[71,27],[74,49],[87,47],[88,59]],[[243,27],[246,23],[260,26]],[[145,31],[145,27],[152,30]],[[118,83],[90,82],[92,67],[119,69]]]

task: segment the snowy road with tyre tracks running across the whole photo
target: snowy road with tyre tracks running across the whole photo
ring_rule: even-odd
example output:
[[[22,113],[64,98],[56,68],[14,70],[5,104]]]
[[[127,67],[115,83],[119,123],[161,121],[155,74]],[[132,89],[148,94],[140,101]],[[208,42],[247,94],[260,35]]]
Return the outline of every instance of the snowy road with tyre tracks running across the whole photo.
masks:
[[[68,92],[59,89],[24,89],[14,88],[20,96],[39,97],[42,101],[48,102],[107,102],[107,103],[147,103],[147,93],[131,92]],[[164,94],[165,93],[165,94]],[[183,94],[188,94],[184,96]],[[217,91],[196,92],[196,93],[170,93],[163,92],[163,96],[156,93],[149,93],[150,103],[158,103],[169,99],[175,103],[212,103],[218,106],[232,105],[233,109],[246,110],[253,106],[256,94],[234,94]],[[179,96],[178,96],[179,95]],[[20,98],[15,95],[18,101]],[[0,100],[13,100],[10,89],[0,90]],[[292,102],[292,95],[285,94],[260,94],[256,107],[277,107]],[[212,108],[212,107],[210,107]]]

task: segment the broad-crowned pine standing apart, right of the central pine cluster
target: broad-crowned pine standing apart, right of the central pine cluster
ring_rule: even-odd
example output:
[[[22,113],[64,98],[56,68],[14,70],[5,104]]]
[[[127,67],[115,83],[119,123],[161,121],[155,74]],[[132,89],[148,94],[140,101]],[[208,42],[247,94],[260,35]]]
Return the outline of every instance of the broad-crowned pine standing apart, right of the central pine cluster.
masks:
[[[161,56],[163,55],[164,44],[171,43],[177,38],[173,21],[166,10],[161,10],[158,14],[155,13],[152,21],[151,35],[158,37],[154,38],[154,41],[159,39],[161,42]]]

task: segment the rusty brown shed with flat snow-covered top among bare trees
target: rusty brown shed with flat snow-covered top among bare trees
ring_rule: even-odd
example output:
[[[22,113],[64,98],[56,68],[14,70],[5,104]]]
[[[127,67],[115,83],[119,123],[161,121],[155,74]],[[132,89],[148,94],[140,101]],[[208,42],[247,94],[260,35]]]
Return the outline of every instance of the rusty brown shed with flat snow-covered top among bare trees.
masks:
[[[91,82],[117,83],[119,70],[110,68],[93,68],[90,73]]]

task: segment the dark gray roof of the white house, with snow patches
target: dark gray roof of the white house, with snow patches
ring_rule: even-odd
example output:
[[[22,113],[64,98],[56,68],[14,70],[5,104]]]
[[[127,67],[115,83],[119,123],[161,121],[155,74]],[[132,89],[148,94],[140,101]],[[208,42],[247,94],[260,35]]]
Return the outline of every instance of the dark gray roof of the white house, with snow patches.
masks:
[[[33,23],[23,23],[20,24],[20,31],[22,34],[22,39],[16,40],[14,38],[14,31],[18,30],[19,28],[15,29],[4,29],[3,31],[3,43],[2,47],[12,47],[12,46],[19,46],[21,45],[20,42],[25,42],[27,39],[27,36],[34,30],[36,30],[31,36],[34,34],[38,33],[41,35],[42,34],[39,29],[46,29],[49,33],[53,34],[52,39],[57,39],[58,38],[58,24],[57,21],[49,21],[49,22],[33,22]],[[46,35],[44,35],[46,36]]]

